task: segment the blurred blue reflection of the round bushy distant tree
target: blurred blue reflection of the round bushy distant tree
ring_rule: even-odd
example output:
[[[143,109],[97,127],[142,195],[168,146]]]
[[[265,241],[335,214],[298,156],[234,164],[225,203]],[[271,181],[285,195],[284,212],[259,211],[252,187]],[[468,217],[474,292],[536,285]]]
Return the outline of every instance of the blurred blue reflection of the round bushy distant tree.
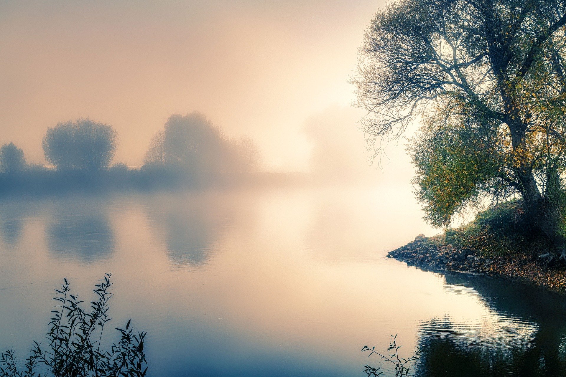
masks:
[[[114,251],[114,232],[105,207],[89,203],[52,209],[46,238],[50,252],[64,259],[98,262]]]

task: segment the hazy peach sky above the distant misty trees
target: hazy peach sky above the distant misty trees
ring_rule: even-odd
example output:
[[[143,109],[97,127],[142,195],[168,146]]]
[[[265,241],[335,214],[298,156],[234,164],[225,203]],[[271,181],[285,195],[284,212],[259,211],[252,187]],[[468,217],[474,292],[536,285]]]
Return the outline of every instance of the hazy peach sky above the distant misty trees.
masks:
[[[350,105],[357,48],[383,3],[1,1],[0,142],[40,162],[47,127],[88,116],[117,129],[115,161],[137,165],[169,115],[198,110],[301,170],[302,130]]]

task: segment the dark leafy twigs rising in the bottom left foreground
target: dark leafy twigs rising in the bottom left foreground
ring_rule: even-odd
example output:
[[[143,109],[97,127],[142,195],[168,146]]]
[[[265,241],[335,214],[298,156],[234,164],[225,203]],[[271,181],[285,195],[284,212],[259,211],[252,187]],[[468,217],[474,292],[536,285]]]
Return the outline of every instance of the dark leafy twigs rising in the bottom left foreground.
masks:
[[[147,372],[144,353],[145,332],[134,333],[130,321],[124,329],[117,328],[121,339],[110,350],[101,349],[102,332],[110,320],[108,301],[110,274],[93,289],[95,301],[91,310],[85,310],[83,301],[71,294],[67,279],[61,289],[56,289],[53,300],[53,318],[49,322],[48,344],[34,342],[32,355],[20,371],[12,350],[0,356],[0,377],[32,377],[38,367],[45,367],[56,377],[143,377]],[[145,367],[144,367],[145,366]],[[41,376],[45,376],[41,374]]]

